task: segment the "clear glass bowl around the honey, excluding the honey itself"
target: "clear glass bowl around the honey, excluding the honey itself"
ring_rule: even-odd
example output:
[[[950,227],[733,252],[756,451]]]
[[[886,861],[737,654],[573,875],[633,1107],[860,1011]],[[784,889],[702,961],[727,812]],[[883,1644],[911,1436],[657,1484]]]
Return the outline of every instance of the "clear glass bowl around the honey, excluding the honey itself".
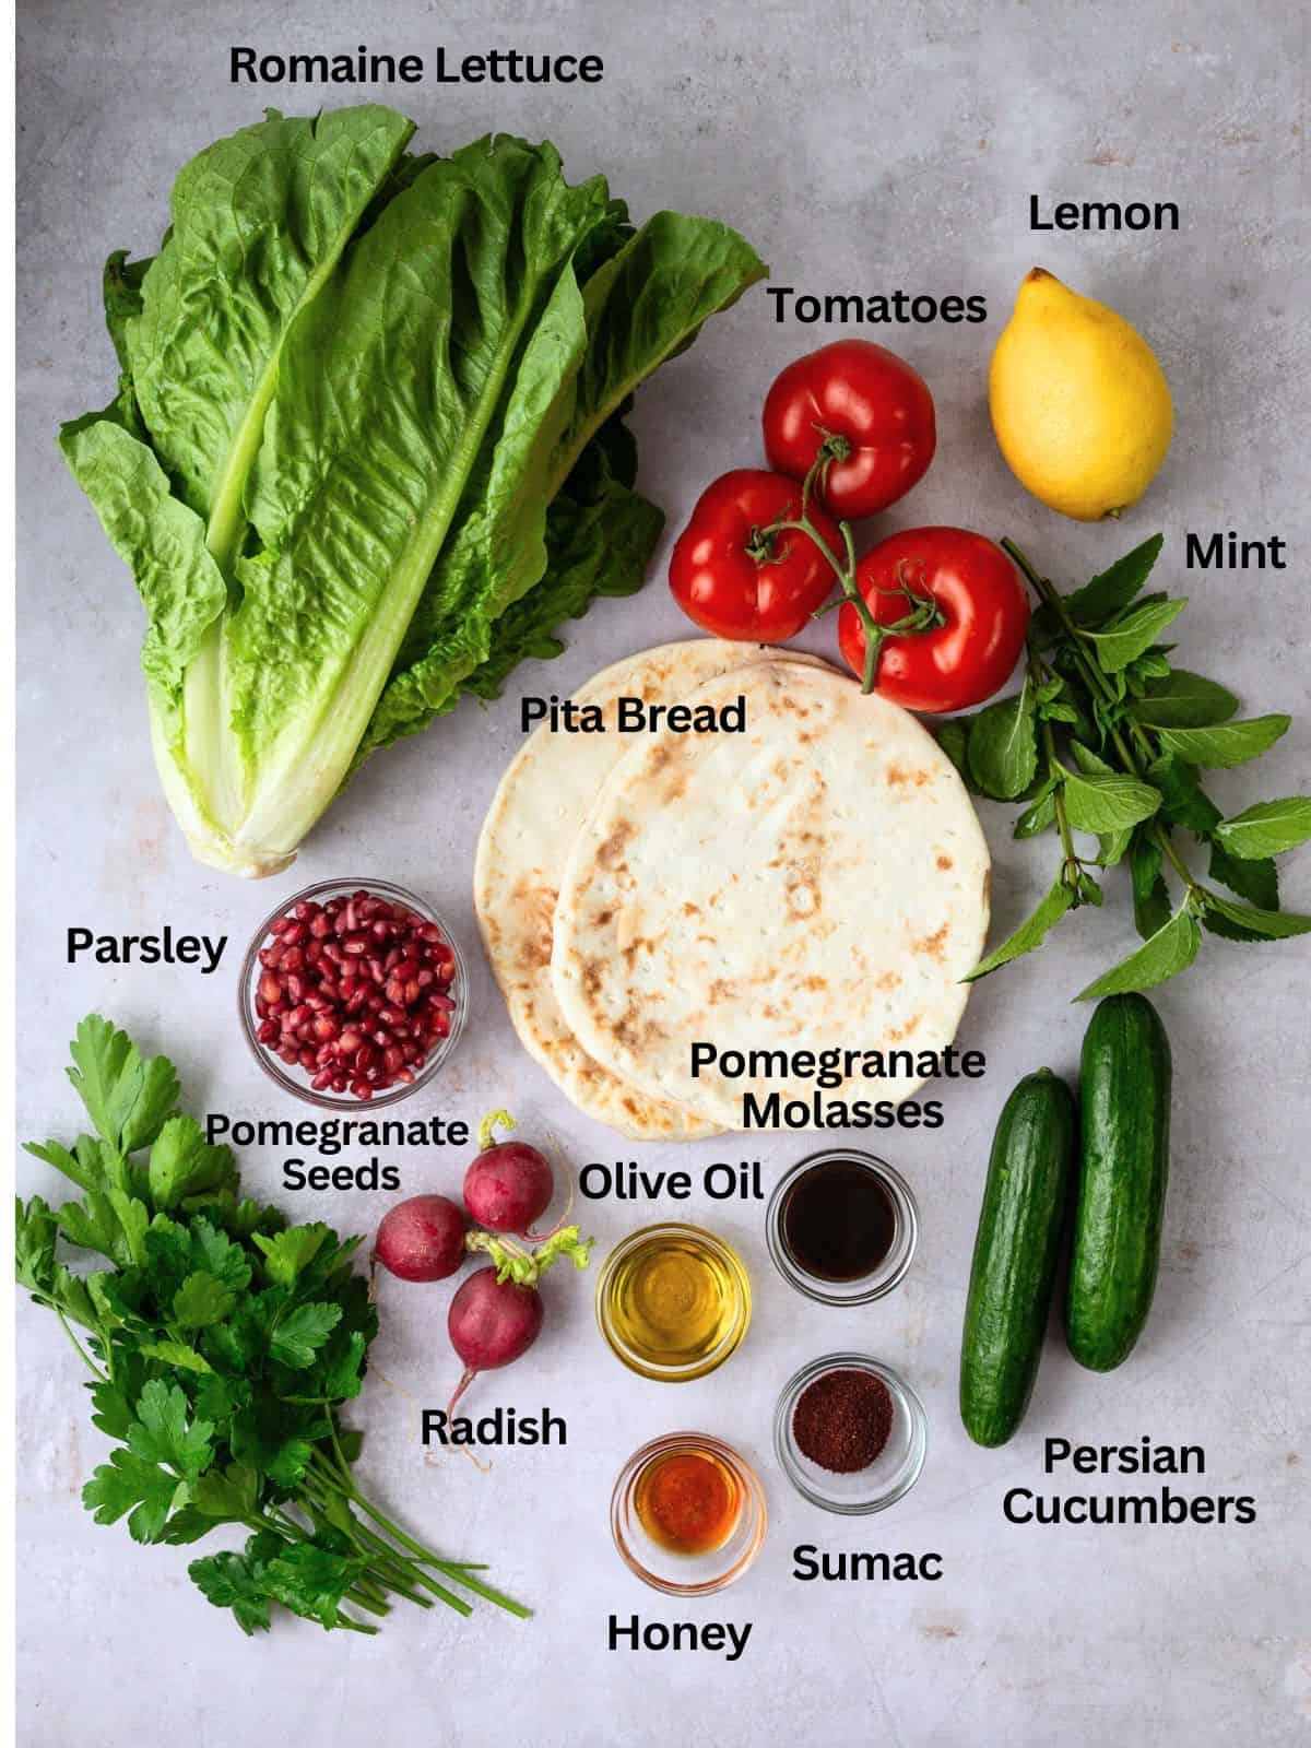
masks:
[[[738,1517],[725,1540],[706,1554],[678,1554],[647,1533],[638,1517],[636,1496],[643,1475],[669,1456],[696,1451],[715,1458],[738,1486]],[[701,1432],[671,1432],[652,1439],[624,1463],[610,1498],[610,1533],[629,1571],[666,1596],[711,1596],[734,1584],[764,1545],[764,1488],[750,1467],[720,1439]]]

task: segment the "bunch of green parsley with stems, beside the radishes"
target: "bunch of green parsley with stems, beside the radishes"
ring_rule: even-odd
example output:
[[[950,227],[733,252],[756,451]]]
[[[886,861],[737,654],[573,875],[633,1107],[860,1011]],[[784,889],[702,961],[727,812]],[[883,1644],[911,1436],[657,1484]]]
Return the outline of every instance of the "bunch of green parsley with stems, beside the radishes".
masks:
[[[96,1523],[126,1517],[133,1540],[170,1543],[246,1530],[241,1552],[189,1571],[248,1634],[274,1603],[351,1633],[376,1633],[360,1615],[385,1615],[390,1596],[470,1613],[449,1584],[526,1615],[474,1577],[481,1566],[440,1559],[355,1486],[362,1435],[337,1411],[378,1334],[351,1269],[360,1239],[239,1199],[231,1150],[177,1112],[168,1058],[142,1058],[98,1014],[72,1056],[96,1133],[28,1152],[80,1197],[19,1201],[16,1264],[94,1374],[91,1419],[119,1440],[82,1489]],[[73,1274],[58,1239],[108,1267]]]

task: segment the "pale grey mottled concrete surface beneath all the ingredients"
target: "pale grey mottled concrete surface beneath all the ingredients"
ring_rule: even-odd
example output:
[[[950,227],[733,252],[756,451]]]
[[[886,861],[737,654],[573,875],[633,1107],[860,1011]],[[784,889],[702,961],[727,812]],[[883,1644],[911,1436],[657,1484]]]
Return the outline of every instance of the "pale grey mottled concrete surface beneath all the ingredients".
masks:
[[[565,692],[621,654],[689,631],[664,586],[668,540],[647,591],[570,631],[554,668],[524,673],[505,703],[461,708],[378,759],[285,877],[245,886],[196,867],[161,799],[138,673],[129,580],[54,447],[59,418],[101,404],[112,357],[98,274],[112,246],[149,252],[171,175],[253,119],[350,91],[234,89],[227,45],[351,49],[358,40],[472,52],[489,45],[596,51],[594,87],[435,87],[379,93],[451,147],[482,129],[551,136],[577,177],[605,170],[645,215],[680,206],[739,225],[799,290],[982,294],[986,327],[871,330],[926,374],[940,447],[888,526],[953,521],[1012,533],[1054,573],[1087,575],[1155,528],[1168,580],[1183,586],[1185,530],[1280,533],[1290,566],[1194,575],[1182,656],[1217,671],[1252,711],[1290,710],[1294,731],[1259,773],[1217,780],[1224,802],[1311,788],[1306,514],[1306,24],[1257,0],[1080,7],[958,0],[797,9],[724,0],[706,12],[570,5],[287,10],[232,0],[49,0],[19,19],[19,1136],[73,1133],[65,1040],[105,1009],[178,1061],[192,1103],[294,1115],[255,1077],[232,1012],[236,956],[264,909],[297,884],[379,874],[427,893],[470,949],[475,1017],[420,1110],[477,1119],[509,1101],[549,1120],[577,1161],[628,1148],[575,1119],[517,1049],[475,946],[470,860],[500,769],[519,743],[521,687]],[[1028,196],[1175,199],[1164,236],[1045,236]],[[1178,435],[1147,502],[1120,528],[1065,523],[1005,470],[984,406],[991,344],[1021,274],[1040,262],[1101,295],[1157,346]],[[642,397],[645,489],[671,535],[701,486],[759,456],[757,414],[774,371],[823,330],[776,325],[764,288],[718,320]],[[830,624],[830,622],[829,622]],[[829,631],[809,643],[829,647]],[[1049,846],[1014,844],[984,811],[996,858],[996,930],[1051,877]],[[79,1362],[52,1320],[19,1308],[19,1696],[24,1748],[288,1741],[475,1743],[549,1748],[815,1739],[1094,1748],[1262,1743],[1311,1731],[1308,1596],[1306,944],[1211,942],[1161,993],[1178,1065],[1175,1178],[1150,1328],[1122,1372],[1082,1374],[1052,1339],[1031,1416],[1000,1453],[974,1449],[954,1374],[988,1138],[1014,1079],[1042,1061],[1073,1070],[1086,1014],[1068,996],[1129,940],[1124,883],[1101,914],[1065,925],[1040,956],[984,984],[963,1042],[989,1075],[949,1091],[937,1134],[888,1152],[914,1182],[923,1245],[884,1304],[837,1313],[778,1281],[759,1210],[690,1204],[741,1245],[757,1287],[750,1335],[720,1374],[678,1390],[628,1376],[603,1348],[582,1281],[552,1294],[531,1362],[477,1384],[481,1407],[549,1404],[568,1447],[502,1453],[489,1474],[425,1461],[421,1402],[451,1384],[446,1290],[386,1283],[376,1372],[360,1404],[369,1486],[409,1523],[538,1613],[461,1622],[402,1610],[378,1640],[327,1640],[281,1620],[246,1643],[192,1591],[187,1554],[140,1549],[96,1528],[79,1489],[105,1440],[87,1425]],[[1288,864],[1287,902],[1311,905],[1311,858]],[[65,928],[163,923],[227,932],[215,977],[68,968]],[[998,933],[1000,939],[1000,933]],[[773,1182],[804,1138],[734,1141]],[[715,1143],[654,1150],[664,1166],[725,1157]],[[276,1152],[246,1178],[278,1196]],[[460,1155],[413,1154],[407,1190],[458,1182]],[[51,1173],[19,1155],[24,1192]],[[302,1197],[295,1211],[369,1229],[378,1201]],[[645,1210],[642,1210],[645,1213]],[[668,1211],[664,1208],[657,1213]],[[589,1211],[598,1252],[633,1215]],[[570,1288],[570,1290],[565,1290]],[[769,1449],[781,1383],[806,1358],[871,1349],[902,1367],[930,1414],[918,1489],[886,1517],[846,1524],[790,1493]],[[610,1484],[629,1451],[675,1426],[736,1442],[760,1468],[766,1550],[734,1591],[678,1605],[631,1578],[607,1530]],[[1016,1528],[1000,1502],[1042,1475],[1044,1433],[1089,1442],[1199,1442],[1206,1491],[1250,1493],[1246,1528]],[[1131,1482],[1108,1482],[1126,1488]],[[937,1550],[939,1584],[801,1584],[792,1549]],[[753,1622],[746,1655],[612,1654],[610,1613]]]

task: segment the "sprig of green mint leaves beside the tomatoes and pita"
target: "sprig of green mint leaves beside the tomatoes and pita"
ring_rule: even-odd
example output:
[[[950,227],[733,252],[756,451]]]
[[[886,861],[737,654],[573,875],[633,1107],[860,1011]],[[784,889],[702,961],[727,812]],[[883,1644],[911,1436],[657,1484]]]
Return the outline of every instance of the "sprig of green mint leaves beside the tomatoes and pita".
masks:
[[[1080,1002],[1176,975],[1197,956],[1203,930],[1246,942],[1308,933],[1311,916],[1280,909],[1274,857],[1311,837],[1311,799],[1259,801],[1225,818],[1201,783],[1203,769],[1257,759],[1290,718],[1234,722],[1232,692],[1171,664],[1175,645],[1157,640],[1187,596],[1143,594],[1162,537],[1073,594],[1061,594],[1012,540],[1002,545],[1040,603],[1024,680],[1016,696],[944,724],[939,739],[974,794],[1026,804],[1016,837],[1056,832],[1061,862],[1037,911],[970,979],[1040,946],[1066,911],[1099,905],[1101,871],[1126,858],[1143,946],[1080,989]],[[1080,853],[1075,832],[1096,839],[1096,853]],[[1178,832],[1206,848],[1206,883]]]

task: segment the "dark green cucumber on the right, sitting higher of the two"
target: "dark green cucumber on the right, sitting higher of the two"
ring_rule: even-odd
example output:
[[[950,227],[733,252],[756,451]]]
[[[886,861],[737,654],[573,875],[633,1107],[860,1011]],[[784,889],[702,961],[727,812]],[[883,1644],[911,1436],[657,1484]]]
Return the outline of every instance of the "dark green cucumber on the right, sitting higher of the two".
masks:
[[[1110,1372],[1152,1309],[1169,1176],[1169,1038],[1141,995],[1101,1002],[1084,1035],[1084,1157],[1070,1255],[1070,1353]]]

